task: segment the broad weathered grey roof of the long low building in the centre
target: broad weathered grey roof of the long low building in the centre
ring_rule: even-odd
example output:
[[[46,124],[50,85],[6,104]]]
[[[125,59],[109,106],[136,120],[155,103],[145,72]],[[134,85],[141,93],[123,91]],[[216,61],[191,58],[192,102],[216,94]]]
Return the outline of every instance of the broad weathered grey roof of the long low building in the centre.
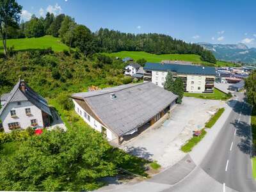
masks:
[[[115,93],[116,98],[111,99]],[[177,99],[177,95],[148,83],[125,84],[95,92],[75,93],[116,135],[140,127]]]

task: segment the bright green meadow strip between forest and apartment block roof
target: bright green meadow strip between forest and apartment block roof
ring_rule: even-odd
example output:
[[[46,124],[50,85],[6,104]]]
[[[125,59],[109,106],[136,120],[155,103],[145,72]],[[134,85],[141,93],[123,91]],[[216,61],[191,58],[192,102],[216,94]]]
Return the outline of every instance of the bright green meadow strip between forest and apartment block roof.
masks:
[[[104,53],[108,56],[115,56],[120,58],[131,57],[133,60],[139,60],[144,58],[148,62],[159,63],[162,60],[180,60],[180,61],[191,61],[193,63],[198,64],[210,64],[205,61],[200,60],[200,56],[197,54],[150,54],[144,51],[121,51],[121,52],[112,52],[112,53]],[[228,63],[225,61],[217,61],[217,67],[222,66],[234,66],[233,63]]]

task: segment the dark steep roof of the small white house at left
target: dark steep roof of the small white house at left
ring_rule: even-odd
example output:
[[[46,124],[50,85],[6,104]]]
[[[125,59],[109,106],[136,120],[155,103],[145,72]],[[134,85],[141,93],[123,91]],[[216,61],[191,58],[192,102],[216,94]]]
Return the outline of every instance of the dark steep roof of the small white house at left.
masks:
[[[26,91],[22,92],[20,90],[20,83],[21,81],[15,84],[12,91],[8,93],[9,97],[6,100],[6,103],[4,104],[3,108],[0,109],[0,116],[6,108],[6,106],[9,104],[9,102],[19,102],[24,100],[29,100],[29,102],[34,104],[37,108],[44,111],[48,115],[51,115],[51,110],[49,109],[47,101],[42,96],[34,92],[31,88],[29,88],[27,84],[25,84]]]

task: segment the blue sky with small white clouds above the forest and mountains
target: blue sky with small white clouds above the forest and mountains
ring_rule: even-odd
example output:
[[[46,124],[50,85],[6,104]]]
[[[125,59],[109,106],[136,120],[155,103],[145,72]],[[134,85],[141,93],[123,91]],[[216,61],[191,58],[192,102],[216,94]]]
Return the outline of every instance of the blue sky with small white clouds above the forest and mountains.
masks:
[[[256,47],[256,1],[248,0],[17,0],[22,19],[65,13],[92,31],[164,33],[186,42]]]

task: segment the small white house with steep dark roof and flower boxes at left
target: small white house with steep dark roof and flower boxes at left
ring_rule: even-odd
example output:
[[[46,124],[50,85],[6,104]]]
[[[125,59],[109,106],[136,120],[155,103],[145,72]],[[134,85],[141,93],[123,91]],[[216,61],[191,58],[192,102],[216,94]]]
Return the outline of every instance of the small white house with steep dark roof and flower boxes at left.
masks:
[[[51,111],[47,101],[29,88],[24,81],[19,81],[10,93],[1,96],[0,120],[4,132],[28,127],[48,127]]]

